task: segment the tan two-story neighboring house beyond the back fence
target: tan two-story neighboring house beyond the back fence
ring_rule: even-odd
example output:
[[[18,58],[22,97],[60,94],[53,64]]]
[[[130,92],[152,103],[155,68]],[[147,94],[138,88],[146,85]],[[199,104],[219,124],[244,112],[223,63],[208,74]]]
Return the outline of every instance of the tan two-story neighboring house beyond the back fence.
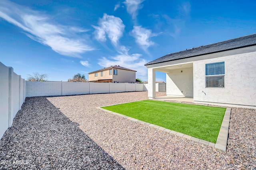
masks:
[[[110,66],[89,72],[89,82],[135,83],[136,71],[122,66]]]

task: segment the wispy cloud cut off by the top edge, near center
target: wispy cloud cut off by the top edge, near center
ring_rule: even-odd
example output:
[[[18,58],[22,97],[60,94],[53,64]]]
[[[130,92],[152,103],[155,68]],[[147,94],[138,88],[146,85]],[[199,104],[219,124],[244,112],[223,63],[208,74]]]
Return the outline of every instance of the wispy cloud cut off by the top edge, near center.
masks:
[[[132,19],[136,19],[138,15],[138,10],[142,8],[141,3],[144,0],[126,0],[124,4],[126,5],[127,12],[132,16]]]

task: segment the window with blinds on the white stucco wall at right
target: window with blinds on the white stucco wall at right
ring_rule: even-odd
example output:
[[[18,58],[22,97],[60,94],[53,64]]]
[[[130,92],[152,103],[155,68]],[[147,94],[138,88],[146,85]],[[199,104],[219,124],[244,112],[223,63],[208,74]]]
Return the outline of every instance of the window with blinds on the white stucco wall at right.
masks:
[[[205,64],[206,87],[224,88],[225,62]]]

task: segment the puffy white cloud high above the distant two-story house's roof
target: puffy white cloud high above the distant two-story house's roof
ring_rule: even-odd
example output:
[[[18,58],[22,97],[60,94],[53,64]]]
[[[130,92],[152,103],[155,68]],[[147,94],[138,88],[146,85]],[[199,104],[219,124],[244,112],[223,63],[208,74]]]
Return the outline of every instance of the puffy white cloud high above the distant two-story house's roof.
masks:
[[[106,35],[112,42],[114,46],[118,45],[120,37],[122,37],[125,25],[123,21],[115,16],[109,16],[107,14],[103,15],[98,22],[99,26],[94,26],[96,30],[94,31],[95,38],[98,41],[106,41]]]

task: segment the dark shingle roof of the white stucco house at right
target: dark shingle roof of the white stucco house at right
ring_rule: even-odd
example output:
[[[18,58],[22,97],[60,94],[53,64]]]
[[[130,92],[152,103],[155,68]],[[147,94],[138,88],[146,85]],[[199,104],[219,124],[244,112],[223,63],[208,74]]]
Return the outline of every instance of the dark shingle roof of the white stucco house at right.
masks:
[[[247,35],[247,36],[239,37],[235,39],[230,39],[227,41],[222,41],[222,42],[214,43],[210,45],[191,48],[185,51],[171,53],[163,57],[160,57],[154,61],[150,61],[149,63],[146,63],[145,66],[150,64],[156,64],[156,63],[164,63],[167,61],[185,59],[189,57],[196,57],[200,55],[218,53],[218,52],[228,51],[232,49],[239,49],[239,48],[249,47],[253,45],[256,45],[256,34]]]

